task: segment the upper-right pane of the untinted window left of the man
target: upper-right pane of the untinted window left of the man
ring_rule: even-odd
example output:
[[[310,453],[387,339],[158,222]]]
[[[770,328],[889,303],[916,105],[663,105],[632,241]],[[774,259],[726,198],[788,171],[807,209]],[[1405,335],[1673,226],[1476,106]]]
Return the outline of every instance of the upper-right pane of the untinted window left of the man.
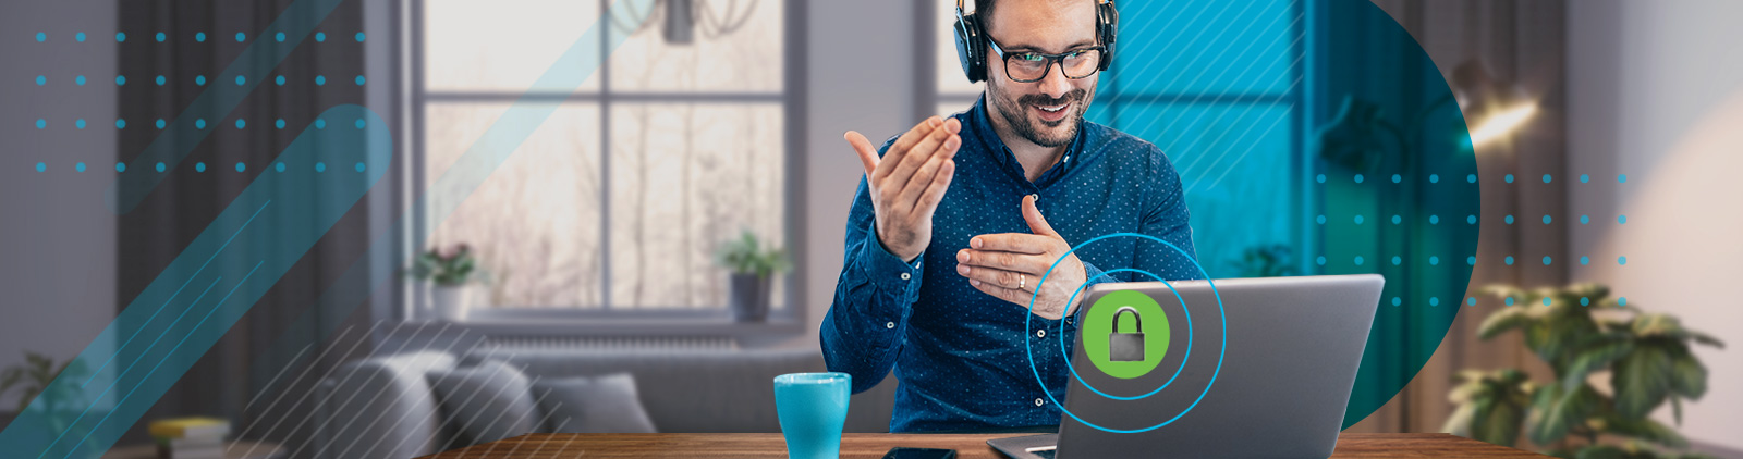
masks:
[[[612,52],[612,90],[781,92],[783,2],[694,2],[688,43],[668,43],[664,31],[666,9],[690,2],[661,2],[647,21],[622,17],[647,28]]]

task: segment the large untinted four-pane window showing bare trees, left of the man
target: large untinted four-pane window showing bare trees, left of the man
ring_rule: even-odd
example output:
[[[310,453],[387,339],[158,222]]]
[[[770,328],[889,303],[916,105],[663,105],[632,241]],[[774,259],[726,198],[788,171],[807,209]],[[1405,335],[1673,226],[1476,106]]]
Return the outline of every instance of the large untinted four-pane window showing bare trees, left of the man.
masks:
[[[493,309],[722,309],[716,247],[786,240],[790,111],[783,0],[410,0],[410,170],[425,190],[516,101],[554,113],[478,190],[427,196],[427,247],[467,243]],[[690,5],[690,42],[669,42]],[[528,92],[601,17],[634,30],[573,92]],[[431,212],[424,212],[431,214]],[[420,238],[411,238],[420,240]],[[783,311],[786,282],[772,306]]]

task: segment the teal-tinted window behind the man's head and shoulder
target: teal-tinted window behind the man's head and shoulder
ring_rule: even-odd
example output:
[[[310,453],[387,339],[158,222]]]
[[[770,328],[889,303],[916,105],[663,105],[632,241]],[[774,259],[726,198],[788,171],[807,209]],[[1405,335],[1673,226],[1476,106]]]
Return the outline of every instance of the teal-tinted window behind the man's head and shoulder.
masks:
[[[957,113],[974,104],[983,83],[969,83],[957,63],[955,2],[936,5],[938,113]],[[1204,269],[1213,278],[1241,276],[1234,263],[1250,247],[1311,247],[1297,193],[1307,177],[1302,0],[1117,5],[1114,64],[1084,118],[1168,155],[1187,191]],[[1300,252],[1293,266],[1306,271]]]

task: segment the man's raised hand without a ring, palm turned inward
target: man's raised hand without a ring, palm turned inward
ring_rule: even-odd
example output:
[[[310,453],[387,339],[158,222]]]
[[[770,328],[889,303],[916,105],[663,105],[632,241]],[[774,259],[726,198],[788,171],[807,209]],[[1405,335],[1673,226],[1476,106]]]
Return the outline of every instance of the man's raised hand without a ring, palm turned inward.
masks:
[[[859,153],[877,210],[877,238],[884,249],[913,263],[933,243],[933,212],[955,176],[962,122],[926,118],[877,156],[866,136],[847,130],[844,139]]]

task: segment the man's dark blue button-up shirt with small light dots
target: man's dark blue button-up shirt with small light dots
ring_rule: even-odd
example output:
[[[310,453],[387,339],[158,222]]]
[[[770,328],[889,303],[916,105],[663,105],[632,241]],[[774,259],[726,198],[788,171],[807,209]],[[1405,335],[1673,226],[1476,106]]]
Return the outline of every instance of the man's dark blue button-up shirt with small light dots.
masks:
[[[985,97],[981,97],[985,101]],[[1192,228],[1180,176],[1154,144],[1105,125],[1084,122],[1065,155],[1030,183],[1016,156],[987,118],[983,103],[953,115],[962,122],[957,172],[933,214],[933,242],[912,264],[877,240],[872,196],[865,179],[847,216],[847,243],[835,303],[823,318],[823,358],[833,372],[852,376],[865,391],[894,370],[896,407],[891,431],[966,431],[1056,426],[1070,377],[1065,358],[1075,343],[1075,318],[1065,318],[1065,349],[1058,320],[1035,316],[1025,329],[1027,306],[1006,303],[957,275],[955,254],[969,238],[988,233],[1030,233],[1021,198],[1037,207],[1072,245],[1109,233],[1143,233],[1178,245],[1189,256]],[[894,143],[884,143],[878,155]],[[1192,261],[1142,238],[1107,238],[1075,252],[1091,282],[1129,282],[1138,268],[1168,280],[1199,278]],[[1046,332],[1041,332],[1046,330]],[[1023,341],[1035,351],[1030,370]]]

